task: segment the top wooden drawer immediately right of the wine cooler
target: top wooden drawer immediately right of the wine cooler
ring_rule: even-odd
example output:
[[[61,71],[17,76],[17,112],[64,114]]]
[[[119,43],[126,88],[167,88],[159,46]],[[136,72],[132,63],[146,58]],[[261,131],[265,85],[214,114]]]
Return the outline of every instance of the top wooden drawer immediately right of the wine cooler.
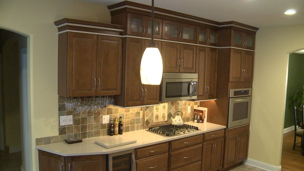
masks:
[[[156,154],[165,153],[168,152],[168,148],[169,142],[138,148],[135,149],[135,159],[138,160],[141,158],[154,156]]]

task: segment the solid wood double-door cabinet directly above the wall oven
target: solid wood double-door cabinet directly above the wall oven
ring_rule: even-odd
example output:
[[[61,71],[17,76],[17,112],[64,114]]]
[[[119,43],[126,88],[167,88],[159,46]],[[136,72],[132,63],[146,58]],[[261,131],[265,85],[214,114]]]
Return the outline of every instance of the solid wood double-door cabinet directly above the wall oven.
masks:
[[[254,52],[231,49],[230,82],[252,82]]]

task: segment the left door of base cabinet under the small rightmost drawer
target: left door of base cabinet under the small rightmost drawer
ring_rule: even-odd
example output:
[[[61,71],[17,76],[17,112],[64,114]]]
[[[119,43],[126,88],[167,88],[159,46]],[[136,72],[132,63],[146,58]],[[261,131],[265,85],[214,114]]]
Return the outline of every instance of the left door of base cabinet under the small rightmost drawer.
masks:
[[[212,155],[214,152],[214,141],[208,141],[203,143],[202,171],[212,170]]]

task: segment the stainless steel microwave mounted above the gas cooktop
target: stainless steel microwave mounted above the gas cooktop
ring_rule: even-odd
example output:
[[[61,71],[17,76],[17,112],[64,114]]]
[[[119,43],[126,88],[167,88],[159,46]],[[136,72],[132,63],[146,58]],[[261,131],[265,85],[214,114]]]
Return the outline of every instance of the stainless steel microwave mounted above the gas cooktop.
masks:
[[[160,101],[196,99],[197,77],[192,73],[163,73]]]

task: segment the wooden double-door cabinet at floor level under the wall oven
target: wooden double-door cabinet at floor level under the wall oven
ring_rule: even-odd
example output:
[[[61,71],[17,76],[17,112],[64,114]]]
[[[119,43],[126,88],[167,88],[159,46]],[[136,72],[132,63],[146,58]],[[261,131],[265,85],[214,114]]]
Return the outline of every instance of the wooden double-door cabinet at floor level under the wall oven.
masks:
[[[226,137],[224,168],[231,167],[247,158],[249,131]]]

